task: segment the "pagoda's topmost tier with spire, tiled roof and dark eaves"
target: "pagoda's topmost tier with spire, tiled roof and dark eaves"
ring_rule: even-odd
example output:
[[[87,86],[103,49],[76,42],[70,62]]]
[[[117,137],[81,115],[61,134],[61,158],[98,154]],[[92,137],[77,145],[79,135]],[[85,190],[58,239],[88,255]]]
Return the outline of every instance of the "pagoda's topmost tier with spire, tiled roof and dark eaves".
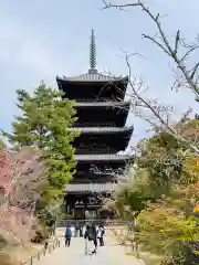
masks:
[[[90,44],[90,68],[87,73],[73,77],[56,76],[56,83],[59,89],[63,92],[63,97],[76,102],[94,100],[96,98],[98,100],[111,100],[111,98],[124,99],[128,81],[128,76],[121,75],[116,77],[97,71],[95,34],[93,30]]]

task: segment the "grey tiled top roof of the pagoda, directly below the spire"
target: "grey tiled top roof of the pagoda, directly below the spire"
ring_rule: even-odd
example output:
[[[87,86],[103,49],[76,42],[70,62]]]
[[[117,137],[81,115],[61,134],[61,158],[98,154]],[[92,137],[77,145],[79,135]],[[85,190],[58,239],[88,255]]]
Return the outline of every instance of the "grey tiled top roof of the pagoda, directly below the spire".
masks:
[[[85,82],[98,82],[98,83],[114,83],[114,82],[122,82],[128,84],[128,76],[125,77],[115,77],[112,75],[105,75],[101,74],[98,72],[95,73],[86,73],[73,77],[59,77],[56,76],[57,82],[64,82],[64,83],[85,83]]]

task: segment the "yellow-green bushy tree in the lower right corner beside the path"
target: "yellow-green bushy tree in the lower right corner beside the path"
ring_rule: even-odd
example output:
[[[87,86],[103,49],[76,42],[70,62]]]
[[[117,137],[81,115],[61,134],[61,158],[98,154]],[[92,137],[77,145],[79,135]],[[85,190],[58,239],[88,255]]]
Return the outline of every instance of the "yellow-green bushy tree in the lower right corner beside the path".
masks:
[[[195,264],[191,256],[196,250],[193,244],[199,240],[199,221],[186,216],[185,202],[180,201],[167,199],[151,203],[138,218],[138,242],[143,250],[163,255],[163,264]]]

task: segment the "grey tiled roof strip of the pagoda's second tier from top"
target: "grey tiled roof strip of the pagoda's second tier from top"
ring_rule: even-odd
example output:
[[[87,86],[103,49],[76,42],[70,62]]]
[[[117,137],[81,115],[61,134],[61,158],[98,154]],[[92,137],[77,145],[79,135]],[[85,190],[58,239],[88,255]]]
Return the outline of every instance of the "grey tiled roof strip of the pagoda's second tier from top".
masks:
[[[130,102],[75,102],[75,107],[129,107]]]

